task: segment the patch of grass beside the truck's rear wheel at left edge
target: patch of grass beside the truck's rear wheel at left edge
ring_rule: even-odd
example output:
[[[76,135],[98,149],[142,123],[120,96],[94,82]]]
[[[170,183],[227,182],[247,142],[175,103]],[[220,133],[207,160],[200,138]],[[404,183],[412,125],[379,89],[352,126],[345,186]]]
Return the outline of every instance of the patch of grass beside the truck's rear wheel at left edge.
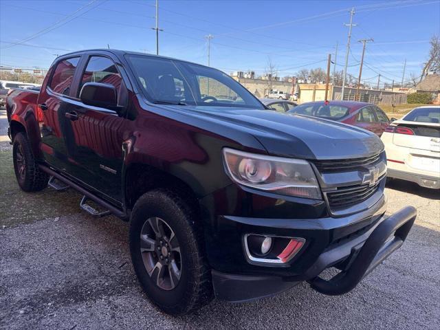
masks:
[[[12,146],[8,142],[0,142],[0,196],[0,228],[80,212],[81,196],[74,189],[21,190],[15,179]]]

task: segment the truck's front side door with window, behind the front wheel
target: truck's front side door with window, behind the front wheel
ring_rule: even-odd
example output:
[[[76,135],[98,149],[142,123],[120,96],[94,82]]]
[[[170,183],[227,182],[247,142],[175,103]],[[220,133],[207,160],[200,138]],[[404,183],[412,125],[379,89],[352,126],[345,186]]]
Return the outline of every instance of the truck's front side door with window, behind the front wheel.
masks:
[[[73,135],[69,144],[74,145],[72,167],[74,177],[98,190],[110,201],[121,201],[123,132],[127,120],[116,111],[83,104],[80,91],[85,83],[113,85],[118,94],[118,105],[126,108],[128,93],[120,74],[120,67],[111,57],[86,56],[80,72],[76,102],[72,104]]]

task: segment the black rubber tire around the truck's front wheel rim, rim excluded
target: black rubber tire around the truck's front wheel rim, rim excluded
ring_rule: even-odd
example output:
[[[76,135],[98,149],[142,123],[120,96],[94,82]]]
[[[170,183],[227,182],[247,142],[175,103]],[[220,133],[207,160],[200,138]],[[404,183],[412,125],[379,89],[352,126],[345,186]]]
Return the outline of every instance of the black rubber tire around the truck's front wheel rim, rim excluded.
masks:
[[[157,278],[154,281],[154,276],[148,275],[140,250],[141,231],[148,222],[147,219],[153,217],[164,221],[175,233],[179,243],[181,272],[177,285],[172,289],[159,287],[156,284]],[[210,267],[203,250],[203,232],[197,225],[196,218],[197,215],[188,203],[168,189],[146,192],[136,201],[131,212],[130,250],[135,273],[148,298],[168,314],[187,314],[208,304],[213,298]],[[151,254],[150,258],[157,258],[155,260],[159,262],[160,252],[156,248],[154,252],[147,253]]]

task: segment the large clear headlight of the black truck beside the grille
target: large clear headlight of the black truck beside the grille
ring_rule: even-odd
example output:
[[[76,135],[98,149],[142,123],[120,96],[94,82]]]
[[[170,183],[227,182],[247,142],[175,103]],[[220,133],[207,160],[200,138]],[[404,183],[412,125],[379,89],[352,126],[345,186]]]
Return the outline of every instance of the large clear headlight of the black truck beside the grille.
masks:
[[[281,195],[321,199],[314,171],[303,159],[272,157],[223,148],[228,175],[243,186]]]

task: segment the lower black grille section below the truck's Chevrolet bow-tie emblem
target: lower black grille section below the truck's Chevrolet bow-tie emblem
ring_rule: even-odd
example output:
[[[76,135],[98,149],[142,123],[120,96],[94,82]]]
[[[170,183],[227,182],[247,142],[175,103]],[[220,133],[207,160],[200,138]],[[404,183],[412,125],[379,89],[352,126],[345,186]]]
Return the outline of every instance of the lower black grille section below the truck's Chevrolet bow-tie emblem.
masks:
[[[369,199],[379,188],[380,181],[378,180],[374,186],[369,184],[362,184],[349,187],[340,187],[337,190],[325,192],[329,207],[331,210],[340,210],[349,208],[355,204],[361,203]]]

